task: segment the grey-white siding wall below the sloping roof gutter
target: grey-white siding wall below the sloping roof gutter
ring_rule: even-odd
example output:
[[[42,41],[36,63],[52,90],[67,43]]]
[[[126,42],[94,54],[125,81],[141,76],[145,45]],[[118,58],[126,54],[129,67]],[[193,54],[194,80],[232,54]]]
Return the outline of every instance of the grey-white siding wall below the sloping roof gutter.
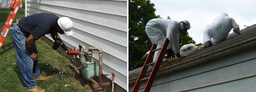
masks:
[[[255,53],[256,49],[247,49],[156,77],[150,92],[255,92]]]

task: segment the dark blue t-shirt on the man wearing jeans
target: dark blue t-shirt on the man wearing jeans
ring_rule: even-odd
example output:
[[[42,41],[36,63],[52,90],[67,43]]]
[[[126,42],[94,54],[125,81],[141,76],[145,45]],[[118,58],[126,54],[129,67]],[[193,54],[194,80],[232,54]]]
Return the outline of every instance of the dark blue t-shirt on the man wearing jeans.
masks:
[[[35,40],[45,34],[54,32],[54,21],[60,17],[50,13],[38,13],[20,19],[19,25],[22,32],[32,34]]]

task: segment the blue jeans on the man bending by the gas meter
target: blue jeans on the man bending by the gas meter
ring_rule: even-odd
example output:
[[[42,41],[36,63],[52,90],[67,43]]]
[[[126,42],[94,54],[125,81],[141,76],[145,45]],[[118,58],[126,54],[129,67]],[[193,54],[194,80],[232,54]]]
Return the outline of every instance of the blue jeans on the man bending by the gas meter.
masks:
[[[18,25],[13,25],[13,30],[11,31],[13,45],[15,49],[15,54],[18,60],[20,74],[22,76],[22,80],[24,81],[26,89],[32,89],[37,87],[34,79],[40,78],[40,69],[37,65],[37,60],[33,61],[33,59],[29,56],[25,41],[27,37],[20,31],[20,27]],[[36,45],[34,44],[34,53],[37,52]]]

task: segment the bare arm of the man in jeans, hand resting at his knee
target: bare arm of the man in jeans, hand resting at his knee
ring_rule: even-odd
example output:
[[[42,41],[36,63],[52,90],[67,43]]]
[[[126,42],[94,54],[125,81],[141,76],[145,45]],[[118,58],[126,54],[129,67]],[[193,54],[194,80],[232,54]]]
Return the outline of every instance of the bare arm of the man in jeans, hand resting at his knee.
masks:
[[[37,53],[35,53],[33,51],[33,47],[34,47],[34,42],[35,42],[35,39],[34,37],[32,36],[32,34],[30,34],[26,41],[25,41],[25,46],[26,46],[26,49],[27,49],[27,52],[29,54],[29,56],[33,59],[33,61],[36,61],[37,59]]]

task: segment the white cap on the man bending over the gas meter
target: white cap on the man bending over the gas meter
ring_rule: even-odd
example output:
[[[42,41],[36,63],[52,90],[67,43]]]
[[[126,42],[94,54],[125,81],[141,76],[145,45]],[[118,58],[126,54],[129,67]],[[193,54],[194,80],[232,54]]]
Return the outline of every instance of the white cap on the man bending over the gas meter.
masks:
[[[65,32],[67,36],[70,36],[73,34],[73,31],[71,30],[73,27],[73,22],[70,20],[70,18],[67,18],[67,17],[59,18],[58,25],[61,27],[61,29]]]

